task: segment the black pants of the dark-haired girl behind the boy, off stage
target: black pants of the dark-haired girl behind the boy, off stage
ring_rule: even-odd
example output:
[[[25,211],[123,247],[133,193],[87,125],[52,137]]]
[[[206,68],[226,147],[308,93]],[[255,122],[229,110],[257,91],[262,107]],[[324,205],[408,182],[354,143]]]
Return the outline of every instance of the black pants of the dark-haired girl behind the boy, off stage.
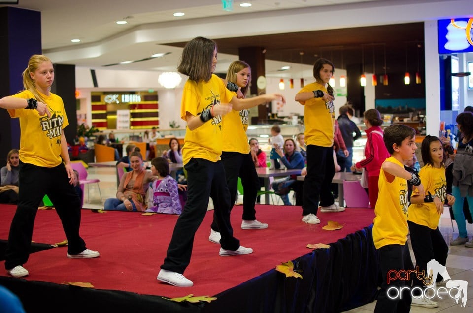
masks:
[[[414,251],[416,267],[418,271],[427,271],[427,263],[434,259],[441,265],[445,266],[448,255],[448,245],[440,233],[439,227],[431,229],[427,226],[419,225],[411,221],[407,221],[410,231],[410,242],[412,251]],[[425,274],[427,276],[427,273]],[[443,280],[443,277],[437,275],[437,282]],[[413,286],[422,287],[425,284],[417,277],[414,278]]]

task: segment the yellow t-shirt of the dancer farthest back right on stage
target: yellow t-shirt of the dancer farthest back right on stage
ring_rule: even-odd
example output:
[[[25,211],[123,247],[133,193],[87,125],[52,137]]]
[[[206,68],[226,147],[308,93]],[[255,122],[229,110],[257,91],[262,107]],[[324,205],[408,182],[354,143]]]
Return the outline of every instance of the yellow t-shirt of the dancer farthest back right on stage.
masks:
[[[327,92],[324,86],[311,83],[305,85],[299,93],[311,93],[317,89]],[[312,98],[299,103],[304,105],[305,144],[332,147],[334,145],[334,102],[325,102],[322,98]]]

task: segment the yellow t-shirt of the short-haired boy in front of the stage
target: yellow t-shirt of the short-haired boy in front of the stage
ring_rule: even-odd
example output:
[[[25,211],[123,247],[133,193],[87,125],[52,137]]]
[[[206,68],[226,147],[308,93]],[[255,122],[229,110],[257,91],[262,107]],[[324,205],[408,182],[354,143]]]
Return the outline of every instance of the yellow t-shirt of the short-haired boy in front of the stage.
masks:
[[[403,164],[394,157],[389,157],[385,162],[392,162],[404,168]],[[373,241],[376,249],[386,245],[405,245],[407,240],[407,209],[408,192],[407,181],[395,177],[389,183],[384,170],[381,168],[378,181],[378,201],[374,208]]]

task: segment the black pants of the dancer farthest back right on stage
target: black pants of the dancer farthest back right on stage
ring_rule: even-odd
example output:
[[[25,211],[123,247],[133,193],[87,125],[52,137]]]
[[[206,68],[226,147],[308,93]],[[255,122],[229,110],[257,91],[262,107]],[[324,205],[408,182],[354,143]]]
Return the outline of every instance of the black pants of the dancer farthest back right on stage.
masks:
[[[304,179],[302,215],[317,214],[321,206],[334,204],[331,191],[335,175],[334,148],[307,146],[307,175]]]

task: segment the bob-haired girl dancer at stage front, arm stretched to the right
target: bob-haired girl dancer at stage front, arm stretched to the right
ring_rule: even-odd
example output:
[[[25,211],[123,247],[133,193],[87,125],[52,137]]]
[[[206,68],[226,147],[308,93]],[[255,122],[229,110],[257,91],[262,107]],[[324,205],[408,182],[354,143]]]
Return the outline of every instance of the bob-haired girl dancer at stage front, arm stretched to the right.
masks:
[[[181,118],[187,122],[182,159],[187,171],[187,201],[177,219],[164,264],[157,279],[178,287],[194,283],[182,273],[189,265],[194,236],[212,197],[220,230],[221,256],[249,254],[253,250],[240,246],[233,237],[230,224],[230,192],[222,154],[222,117],[232,109],[249,109],[272,100],[282,100],[281,94],[264,94],[238,99],[223,81],[212,73],[217,65],[217,45],[213,40],[196,37],[182,51],[177,70],[189,76],[181,101]]]

